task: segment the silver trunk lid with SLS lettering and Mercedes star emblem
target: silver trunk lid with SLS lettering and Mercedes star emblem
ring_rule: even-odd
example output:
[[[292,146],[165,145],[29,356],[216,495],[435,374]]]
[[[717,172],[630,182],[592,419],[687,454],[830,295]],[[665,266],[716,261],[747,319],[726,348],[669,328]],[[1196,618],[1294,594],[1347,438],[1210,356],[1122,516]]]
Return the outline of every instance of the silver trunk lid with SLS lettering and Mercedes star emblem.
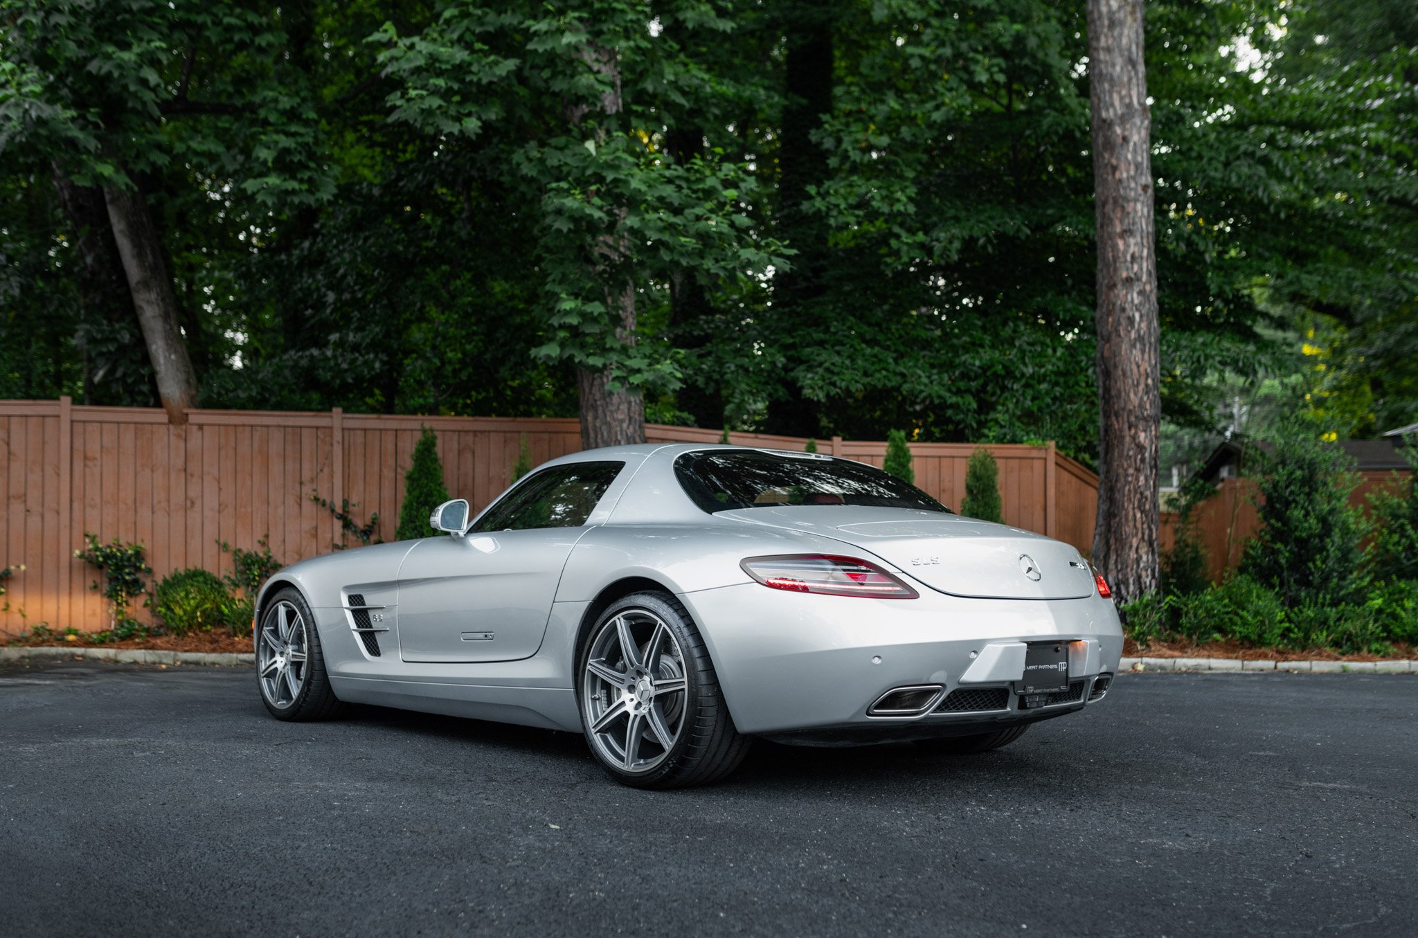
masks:
[[[1093,574],[1072,546],[959,514],[814,504],[737,509],[719,517],[844,541],[956,597],[1082,599],[1095,591]]]

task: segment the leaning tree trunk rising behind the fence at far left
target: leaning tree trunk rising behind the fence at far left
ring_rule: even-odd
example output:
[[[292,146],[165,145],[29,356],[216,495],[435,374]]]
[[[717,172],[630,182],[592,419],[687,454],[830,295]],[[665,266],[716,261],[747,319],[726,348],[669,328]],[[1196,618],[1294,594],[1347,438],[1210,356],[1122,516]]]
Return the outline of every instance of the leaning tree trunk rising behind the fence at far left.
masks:
[[[133,295],[138,323],[143,329],[147,357],[157,377],[157,395],[167,411],[167,419],[186,424],[187,411],[197,407],[197,374],[183,341],[179,326],[182,310],[173,295],[167,265],[163,264],[162,245],[157,242],[153,218],[147,214],[147,203],[138,190],[123,191],[112,186],[104,190],[104,200],[108,203],[113,239],[128,275],[128,289]]]

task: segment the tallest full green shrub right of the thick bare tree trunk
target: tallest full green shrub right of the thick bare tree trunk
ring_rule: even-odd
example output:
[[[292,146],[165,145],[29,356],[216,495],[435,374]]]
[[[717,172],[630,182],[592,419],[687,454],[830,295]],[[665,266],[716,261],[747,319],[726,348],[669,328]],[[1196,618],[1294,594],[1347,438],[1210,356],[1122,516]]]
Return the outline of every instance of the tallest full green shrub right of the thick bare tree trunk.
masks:
[[[1364,520],[1349,503],[1358,485],[1353,462],[1337,445],[1295,426],[1258,463],[1261,531],[1246,546],[1241,571],[1290,608],[1356,599]]]

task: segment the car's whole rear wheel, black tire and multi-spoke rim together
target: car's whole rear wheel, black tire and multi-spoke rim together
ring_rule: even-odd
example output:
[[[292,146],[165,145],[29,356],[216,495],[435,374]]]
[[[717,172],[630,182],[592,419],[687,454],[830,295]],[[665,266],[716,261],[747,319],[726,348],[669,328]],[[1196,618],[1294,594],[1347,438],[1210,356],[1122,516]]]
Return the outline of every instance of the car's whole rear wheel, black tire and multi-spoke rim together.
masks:
[[[634,594],[611,604],[581,642],[581,724],[591,752],[637,788],[702,785],[747,751],[713,665],[683,606]]]

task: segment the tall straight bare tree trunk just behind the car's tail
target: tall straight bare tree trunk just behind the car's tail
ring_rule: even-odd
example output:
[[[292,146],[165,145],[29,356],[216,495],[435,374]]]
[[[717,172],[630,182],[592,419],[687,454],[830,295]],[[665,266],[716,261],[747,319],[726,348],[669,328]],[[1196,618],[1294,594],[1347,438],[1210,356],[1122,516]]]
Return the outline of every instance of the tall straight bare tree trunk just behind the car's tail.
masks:
[[[1143,0],[1088,0],[1098,210],[1098,527],[1119,601],[1157,588],[1157,256]]]

